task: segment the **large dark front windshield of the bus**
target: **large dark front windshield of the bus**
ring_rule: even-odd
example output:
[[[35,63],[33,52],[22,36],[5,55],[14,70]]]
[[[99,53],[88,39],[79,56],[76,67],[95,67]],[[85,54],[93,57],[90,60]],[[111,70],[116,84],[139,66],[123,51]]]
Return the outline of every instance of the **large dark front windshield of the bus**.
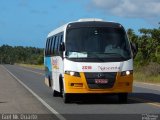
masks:
[[[131,50],[122,28],[81,27],[67,30],[66,57],[128,60]]]

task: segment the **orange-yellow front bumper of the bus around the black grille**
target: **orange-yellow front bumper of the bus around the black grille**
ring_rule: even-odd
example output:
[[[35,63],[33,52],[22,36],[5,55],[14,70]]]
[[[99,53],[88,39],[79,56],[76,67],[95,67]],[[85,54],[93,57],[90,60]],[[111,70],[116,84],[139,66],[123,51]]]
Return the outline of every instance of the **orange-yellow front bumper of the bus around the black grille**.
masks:
[[[80,77],[64,75],[65,93],[76,94],[102,94],[102,93],[130,93],[133,86],[133,74],[121,76],[117,73],[115,82],[111,88],[93,89],[88,86],[84,73],[80,73]]]

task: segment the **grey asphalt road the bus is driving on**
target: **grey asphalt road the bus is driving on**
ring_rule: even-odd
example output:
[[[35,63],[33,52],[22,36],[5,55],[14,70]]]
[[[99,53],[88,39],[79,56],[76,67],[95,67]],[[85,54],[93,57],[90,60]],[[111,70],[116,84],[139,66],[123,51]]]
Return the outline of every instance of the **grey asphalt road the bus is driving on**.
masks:
[[[81,96],[70,104],[61,97],[53,97],[44,84],[44,71],[15,65],[0,66],[23,87],[28,89],[50,112],[61,120],[142,120],[158,115],[160,120],[160,86],[135,84],[127,104],[119,104],[117,96]],[[152,117],[152,116],[150,116]]]

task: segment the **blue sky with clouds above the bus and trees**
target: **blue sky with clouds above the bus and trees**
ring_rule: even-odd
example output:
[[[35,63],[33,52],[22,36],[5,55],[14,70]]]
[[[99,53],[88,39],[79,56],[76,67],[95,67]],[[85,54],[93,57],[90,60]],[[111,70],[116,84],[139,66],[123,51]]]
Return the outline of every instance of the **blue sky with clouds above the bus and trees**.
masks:
[[[47,34],[80,18],[158,28],[160,0],[0,0],[0,46],[44,48]]]

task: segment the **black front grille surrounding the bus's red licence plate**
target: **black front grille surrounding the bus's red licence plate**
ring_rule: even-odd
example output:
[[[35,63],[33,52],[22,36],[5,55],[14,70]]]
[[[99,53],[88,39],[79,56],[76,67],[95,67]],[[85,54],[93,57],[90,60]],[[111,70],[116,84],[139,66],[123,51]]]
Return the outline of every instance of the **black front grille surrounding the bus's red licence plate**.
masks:
[[[116,74],[116,72],[91,72],[85,73],[85,77],[90,89],[105,89],[113,87],[116,79]],[[108,83],[97,84],[95,82],[96,79],[107,79]]]

